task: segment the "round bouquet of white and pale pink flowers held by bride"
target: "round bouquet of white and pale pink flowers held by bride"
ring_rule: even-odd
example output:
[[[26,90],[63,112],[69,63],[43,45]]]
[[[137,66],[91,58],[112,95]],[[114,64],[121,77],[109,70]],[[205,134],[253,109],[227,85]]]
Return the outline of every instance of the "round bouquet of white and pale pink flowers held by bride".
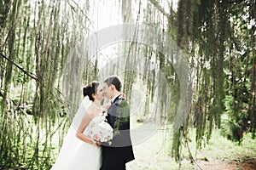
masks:
[[[90,123],[90,139],[96,143],[108,142],[113,139],[113,128],[106,122],[106,116],[102,115],[97,117],[94,122]]]

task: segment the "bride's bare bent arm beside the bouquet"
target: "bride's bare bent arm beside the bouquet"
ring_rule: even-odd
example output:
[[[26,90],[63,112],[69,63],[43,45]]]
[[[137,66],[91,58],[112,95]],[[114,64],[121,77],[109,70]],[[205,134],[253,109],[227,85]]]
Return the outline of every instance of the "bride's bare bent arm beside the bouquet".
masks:
[[[91,117],[89,114],[84,114],[82,121],[80,122],[79,128],[76,133],[76,137],[86,143],[95,144],[89,137],[84,135],[84,129],[88,126]]]

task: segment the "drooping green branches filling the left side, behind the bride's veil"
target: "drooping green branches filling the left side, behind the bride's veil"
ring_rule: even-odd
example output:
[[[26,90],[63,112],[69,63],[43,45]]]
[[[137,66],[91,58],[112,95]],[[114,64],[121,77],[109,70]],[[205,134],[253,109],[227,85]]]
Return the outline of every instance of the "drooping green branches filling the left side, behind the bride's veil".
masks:
[[[68,27],[67,2],[2,3],[0,169],[49,169],[70,125],[59,90],[61,71],[84,29]]]

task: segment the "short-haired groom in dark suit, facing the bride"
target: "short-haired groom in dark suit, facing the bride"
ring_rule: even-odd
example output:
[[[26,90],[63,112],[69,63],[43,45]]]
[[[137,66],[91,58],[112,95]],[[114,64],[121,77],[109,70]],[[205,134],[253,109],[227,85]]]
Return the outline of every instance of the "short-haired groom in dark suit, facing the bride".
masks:
[[[104,92],[111,105],[108,123],[113,127],[112,144],[102,143],[102,167],[100,170],[125,170],[125,163],[134,160],[130,137],[130,110],[121,95],[119,77],[111,76],[104,81]]]

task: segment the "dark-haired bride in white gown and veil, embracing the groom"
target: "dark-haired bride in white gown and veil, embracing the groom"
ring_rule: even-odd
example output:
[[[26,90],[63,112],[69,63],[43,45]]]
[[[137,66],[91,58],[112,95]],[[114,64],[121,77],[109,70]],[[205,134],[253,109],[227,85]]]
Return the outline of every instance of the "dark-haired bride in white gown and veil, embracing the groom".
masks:
[[[108,106],[101,106],[104,92],[100,82],[90,82],[83,88],[84,100],[73,118],[59,156],[51,170],[98,170],[102,165],[100,144],[89,137],[90,123],[102,115]]]

